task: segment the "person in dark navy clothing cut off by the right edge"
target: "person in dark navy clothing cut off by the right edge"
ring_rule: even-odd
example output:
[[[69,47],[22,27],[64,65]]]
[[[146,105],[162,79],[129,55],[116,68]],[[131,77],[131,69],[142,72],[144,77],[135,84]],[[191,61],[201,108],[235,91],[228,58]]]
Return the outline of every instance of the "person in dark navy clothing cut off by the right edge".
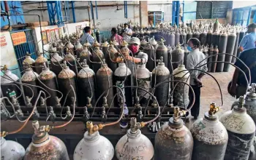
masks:
[[[254,44],[254,48],[244,50],[244,52],[241,52],[241,55],[239,56],[239,59],[242,60],[245,63],[245,65],[247,65],[247,67],[249,68],[252,83],[256,83],[256,41]],[[249,79],[249,71],[241,63],[240,60],[236,60],[235,65],[238,68],[241,68],[241,70],[244,71],[244,73],[246,73],[247,79]],[[241,71],[239,71],[238,68],[236,68],[233,74],[233,79],[229,90],[230,95],[232,95],[233,97],[236,96],[236,98],[246,94],[246,88],[248,85],[246,83],[244,74]]]

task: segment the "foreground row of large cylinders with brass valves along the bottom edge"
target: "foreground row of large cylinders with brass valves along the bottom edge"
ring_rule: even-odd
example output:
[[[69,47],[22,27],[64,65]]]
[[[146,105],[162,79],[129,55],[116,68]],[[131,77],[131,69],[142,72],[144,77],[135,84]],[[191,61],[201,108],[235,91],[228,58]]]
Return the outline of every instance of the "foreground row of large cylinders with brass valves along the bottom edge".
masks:
[[[255,84],[233,103],[232,110],[217,116],[219,107],[211,103],[203,119],[198,119],[189,130],[181,116],[185,113],[174,108],[170,118],[157,132],[154,146],[140,132],[143,122],[135,118],[130,121],[130,129],[121,137],[116,148],[110,141],[99,135],[101,125],[86,124],[83,140],[75,148],[73,158],[78,159],[183,159],[183,160],[230,160],[255,159]],[[1,156],[4,159],[69,159],[67,148],[59,138],[48,135],[49,127],[33,122],[32,143],[26,149],[13,141],[1,137]],[[116,153],[116,158],[114,155]]]

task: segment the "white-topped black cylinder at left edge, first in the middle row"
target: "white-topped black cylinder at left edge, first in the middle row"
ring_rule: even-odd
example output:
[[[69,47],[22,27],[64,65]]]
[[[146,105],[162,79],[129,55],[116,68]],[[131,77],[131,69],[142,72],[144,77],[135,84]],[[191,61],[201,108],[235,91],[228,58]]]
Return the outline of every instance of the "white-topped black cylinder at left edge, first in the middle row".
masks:
[[[20,87],[20,85],[16,84],[18,86],[17,87],[13,84],[15,84],[14,81],[19,82],[20,79],[18,78],[18,76],[16,76],[14,73],[12,73],[10,70],[7,69],[7,65],[4,65],[3,71],[4,71],[4,76],[1,77],[1,92],[2,92],[3,96],[9,97],[9,99],[10,99],[10,97],[11,97],[10,94],[12,92],[15,92],[16,97],[18,97],[21,94],[20,89],[18,89],[18,87]],[[10,101],[11,101],[11,99],[10,99]],[[21,104],[24,104],[23,97],[18,98],[18,102]]]

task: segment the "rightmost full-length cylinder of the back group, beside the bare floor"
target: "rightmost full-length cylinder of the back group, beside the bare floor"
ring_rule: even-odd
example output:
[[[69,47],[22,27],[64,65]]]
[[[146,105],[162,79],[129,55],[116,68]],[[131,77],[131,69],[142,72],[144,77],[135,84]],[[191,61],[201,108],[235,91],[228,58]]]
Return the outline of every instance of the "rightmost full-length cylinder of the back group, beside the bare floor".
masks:
[[[226,53],[233,55],[235,44],[236,44],[236,33],[230,33],[227,36]],[[225,55],[225,62],[231,63],[232,61],[231,55]],[[230,64],[225,63],[223,71],[228,72],[229,70],[230,70]]]

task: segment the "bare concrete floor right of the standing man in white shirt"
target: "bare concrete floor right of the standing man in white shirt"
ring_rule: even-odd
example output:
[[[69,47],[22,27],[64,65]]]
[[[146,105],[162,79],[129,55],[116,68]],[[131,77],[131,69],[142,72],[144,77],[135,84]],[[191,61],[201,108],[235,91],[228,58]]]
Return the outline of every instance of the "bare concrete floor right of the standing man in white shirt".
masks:
[[[224,105],[217,113],[218,116],[221,116],[226,111],[229,111],[232,103],[236,100],[235,97],[232,97],[227,92],[227,84],[232,80],[234,71],[235,68],[233,66],[230,66],[229,72],[211,73],[211,75],[214,76],[219,82],[223,95]],[[208,112],[211,102],[216,103],[217,106],[221,106],[222,104],[219,87],[217,86],[217,83],[214,81],[214,79],[212,79],[211,76],[206,75],[203,76],[202,82],[203,87],[201,88],[200,115],[198,117],[199,119],[203,118],[204,113]],[[190,117],[189,120],[190,121],[187,127],[191,127],[192,122],[195,121],[193,117]]]

